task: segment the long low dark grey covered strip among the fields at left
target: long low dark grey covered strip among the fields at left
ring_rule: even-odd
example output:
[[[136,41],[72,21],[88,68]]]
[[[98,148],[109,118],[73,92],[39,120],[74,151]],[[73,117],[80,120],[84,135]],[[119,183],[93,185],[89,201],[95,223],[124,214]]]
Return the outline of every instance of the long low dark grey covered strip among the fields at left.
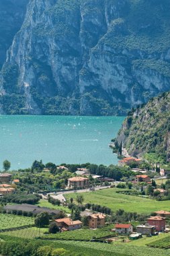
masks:
[[[47,212],[51,216],[60,214],[60,211],[58,211],[58,210],[53,210],[48,207],[40,207],[40,206],[36,206],[36,205],[31,205],[28,203],[5,205],[3,207],[3,209],[6,210],[7,212],[8,211],[11,212],[13,210],[22,211],[22,212],[31,212],[33,215],[40,214],[42,212]]]

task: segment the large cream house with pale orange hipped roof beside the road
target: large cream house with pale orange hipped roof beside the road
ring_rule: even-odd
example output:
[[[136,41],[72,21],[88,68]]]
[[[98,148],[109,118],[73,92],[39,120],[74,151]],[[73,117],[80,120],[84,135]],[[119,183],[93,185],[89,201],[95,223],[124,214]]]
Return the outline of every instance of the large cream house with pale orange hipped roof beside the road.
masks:
[[[73,177],[68,179],[68,187],[70,189],[85,188],[89,186],[89,179],[84,177]]]

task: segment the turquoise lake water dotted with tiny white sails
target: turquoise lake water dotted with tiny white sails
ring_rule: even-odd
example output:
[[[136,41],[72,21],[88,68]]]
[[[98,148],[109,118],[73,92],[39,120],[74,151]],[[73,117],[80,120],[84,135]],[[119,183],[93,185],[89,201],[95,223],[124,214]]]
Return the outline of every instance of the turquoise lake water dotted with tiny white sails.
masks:
[[[34,160],[55,164],[117,164],[109,148],[124,117],[0,116],[0,169],[28,168]]]

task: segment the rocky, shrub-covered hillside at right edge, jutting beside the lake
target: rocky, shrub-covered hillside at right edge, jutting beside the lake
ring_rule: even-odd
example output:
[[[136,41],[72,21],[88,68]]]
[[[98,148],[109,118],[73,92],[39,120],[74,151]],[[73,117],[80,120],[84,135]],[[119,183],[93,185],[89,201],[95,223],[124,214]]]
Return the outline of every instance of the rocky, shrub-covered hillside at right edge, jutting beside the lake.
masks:
[[[170,92],[132,110],[117,137],[132,156],[170,162]]]

